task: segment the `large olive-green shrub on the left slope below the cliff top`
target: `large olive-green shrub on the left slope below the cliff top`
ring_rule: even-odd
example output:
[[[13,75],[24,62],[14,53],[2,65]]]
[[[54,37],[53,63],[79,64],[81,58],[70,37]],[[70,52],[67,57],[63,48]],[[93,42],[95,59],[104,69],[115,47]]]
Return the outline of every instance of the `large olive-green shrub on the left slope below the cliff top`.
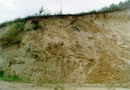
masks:
[[[10,46],[13,44],[19,44],[21,42],[21,38],[18,34],[24,30],[24,23],[15,23],[10,26],[10,29],[4,33],[0,37],[0,41],[2,42],[2,46]]]

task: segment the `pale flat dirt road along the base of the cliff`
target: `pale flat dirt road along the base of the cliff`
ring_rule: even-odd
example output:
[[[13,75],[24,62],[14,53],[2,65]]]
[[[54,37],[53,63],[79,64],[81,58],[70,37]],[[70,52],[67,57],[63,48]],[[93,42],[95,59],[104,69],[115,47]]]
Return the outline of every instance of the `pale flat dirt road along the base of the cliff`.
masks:
[[[0,81],[0,90],[130,90],[130,88],[86,85],[43,85]]]

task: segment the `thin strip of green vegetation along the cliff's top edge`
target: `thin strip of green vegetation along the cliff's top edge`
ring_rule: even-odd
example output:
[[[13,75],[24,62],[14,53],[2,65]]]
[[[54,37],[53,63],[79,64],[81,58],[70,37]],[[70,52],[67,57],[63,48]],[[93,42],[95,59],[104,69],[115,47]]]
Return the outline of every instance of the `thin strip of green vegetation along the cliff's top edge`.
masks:
[[[62,10],[58,13],[51,14],[48,10],[43,9],[43,7],[42,7],[39,10],[39,14],[36,13],[35,15],[27,16],[25,18],[17,18],[17,19],[12,20],[12,21],[3,22],[3,23],[0,24],[0,28],[3,28],[3,27],[5,27],[9,24],[16,23],[16,22],[26,22],[30,18],[67,16],[67,15],[76,16],[76,15],[84,15],[84,14],[106,13],[106,12],[113,12],[115,10],[122,10],[122,9],[126,9],[126,8],[130,8],[130,0],[126,0],[124,2],[121,1],[118,4],[111,4],[110,6],[103,7],[99,10],[92,10],[90,12],[81,12],[81,13],[66,14],[66,15],[62,14]],[[43,14],[41,14],[41,13],[43,13]]]

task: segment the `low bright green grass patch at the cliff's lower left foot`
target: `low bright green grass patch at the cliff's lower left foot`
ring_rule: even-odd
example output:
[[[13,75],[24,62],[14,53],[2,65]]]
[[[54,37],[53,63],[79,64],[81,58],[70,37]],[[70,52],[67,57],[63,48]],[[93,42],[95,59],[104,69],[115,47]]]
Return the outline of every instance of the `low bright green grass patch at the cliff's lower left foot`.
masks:
[[[22,78],[16,75],[10,75],[10,76],[5,75],[3,70],[0,70],[0,80],[9,81],[9,82],[22,82],[23,81]]]

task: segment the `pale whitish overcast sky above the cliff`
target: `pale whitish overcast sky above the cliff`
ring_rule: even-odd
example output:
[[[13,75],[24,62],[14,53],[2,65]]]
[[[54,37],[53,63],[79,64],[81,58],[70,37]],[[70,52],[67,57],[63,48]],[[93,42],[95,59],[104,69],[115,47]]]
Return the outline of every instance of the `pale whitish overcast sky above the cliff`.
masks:
[[[62,10],[63,14],[73,14],[98,10],[120,1],[125,0],[0,0],[0,23],[34,15],[42,6],[51,13]]]

